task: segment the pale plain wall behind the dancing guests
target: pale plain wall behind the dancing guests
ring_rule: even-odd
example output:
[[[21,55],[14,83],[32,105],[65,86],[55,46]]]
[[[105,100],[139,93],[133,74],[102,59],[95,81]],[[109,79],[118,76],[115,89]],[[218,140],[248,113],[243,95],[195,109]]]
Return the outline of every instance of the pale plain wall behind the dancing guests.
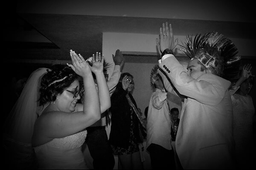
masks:
[[[112,54],[115,54],[116,49],[128,52],[157,52],[155,45],[157,37],[158,35],[104,32],[102,53],[106,60],[112,63]],[[181,42],[184,43],[184,40],[186,40],[185,36],[174,35],[174,38],[179,39],[179,44],[181,44]],[[255,55],[251,44],[255,43],[256,40],[230,39],[233,40],[239,49],[239,55]],[[142,112],[144,112],[145,107],[148,106],[149,98],[152,93],[149,77],[153,66],[154,64],[152,63],[125,63],[122,70],[122,72],[130,72],[134,76],[135,89],[133,96]],[[109,75],[111,75],[111,72],[109,72]]]

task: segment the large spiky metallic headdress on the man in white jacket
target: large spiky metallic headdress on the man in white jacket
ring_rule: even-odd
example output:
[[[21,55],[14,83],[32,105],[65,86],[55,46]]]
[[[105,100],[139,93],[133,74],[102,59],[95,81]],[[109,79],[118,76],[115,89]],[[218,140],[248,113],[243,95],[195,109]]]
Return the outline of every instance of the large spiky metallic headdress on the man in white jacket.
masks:
[[[181,46],[181,45],[180,45]],[[239,74],[241,56],[237,55],[235,44],[218,32],[209,32],[201,36],[187,35],[186,44],[181,46],[190,59],[197,58],[213,74],[231,81],[234,84]]]

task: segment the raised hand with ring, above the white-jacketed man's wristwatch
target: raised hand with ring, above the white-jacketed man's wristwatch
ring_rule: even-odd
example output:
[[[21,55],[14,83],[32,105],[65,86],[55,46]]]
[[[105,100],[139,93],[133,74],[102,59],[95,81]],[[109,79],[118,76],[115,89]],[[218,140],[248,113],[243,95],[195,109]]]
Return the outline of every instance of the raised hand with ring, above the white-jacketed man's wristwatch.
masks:
[[[175,49],[178,44],[178,39],[173,39],[172,24],[163,23],[160,27],[159,39],[156,39],[157,50],[161,54],[165,49]]]

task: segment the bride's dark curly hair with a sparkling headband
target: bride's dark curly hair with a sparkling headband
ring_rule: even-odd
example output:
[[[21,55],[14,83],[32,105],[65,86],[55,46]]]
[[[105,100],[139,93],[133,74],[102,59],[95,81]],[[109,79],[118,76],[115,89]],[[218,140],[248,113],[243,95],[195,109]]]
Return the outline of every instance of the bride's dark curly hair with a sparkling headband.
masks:
[[[39,105],[55,101],[57,95],[64,92],[75,80],[79,80],[79,75],[69,66],[55,64],[47,69],[41,79]]]

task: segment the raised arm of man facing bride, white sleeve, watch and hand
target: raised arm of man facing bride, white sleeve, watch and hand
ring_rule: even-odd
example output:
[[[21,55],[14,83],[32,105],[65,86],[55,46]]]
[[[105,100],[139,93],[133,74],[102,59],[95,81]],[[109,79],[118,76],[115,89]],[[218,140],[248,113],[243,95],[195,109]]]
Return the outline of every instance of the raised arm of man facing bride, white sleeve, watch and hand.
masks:
[[[224,97],[230,82],[217,79],[213,74],[202,75],[200,79],[189,76],[187,70],[166,49],[172,48],[172,25],[163,23],[160,28],[160,50],[163,52],[159,67],[166,73],[172,84],[181,95],[194,98],[202,103],[217,104]],[[161,75],[161,74],[160,74]]]

